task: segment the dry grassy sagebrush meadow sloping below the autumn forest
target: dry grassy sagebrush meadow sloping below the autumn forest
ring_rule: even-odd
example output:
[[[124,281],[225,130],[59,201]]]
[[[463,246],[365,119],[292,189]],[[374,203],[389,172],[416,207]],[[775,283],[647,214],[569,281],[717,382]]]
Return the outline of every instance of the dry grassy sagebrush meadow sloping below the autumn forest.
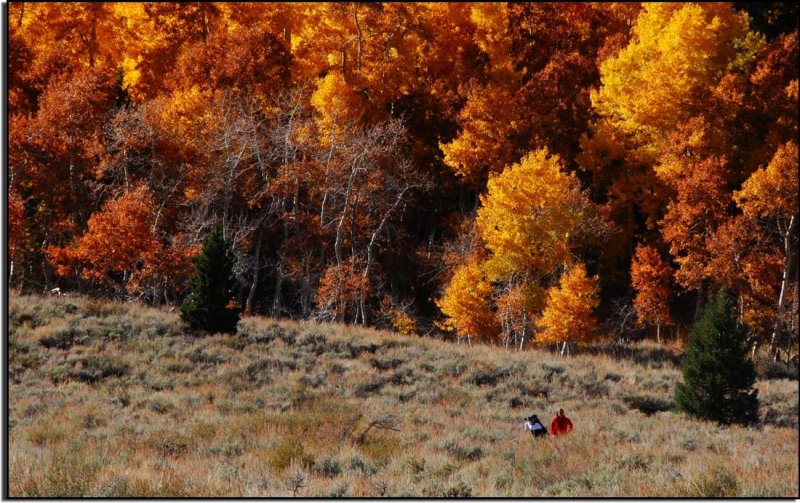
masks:
[[[9,496],[798,496],[798,381],[762,424],[673,411],[678,358],[507,351],[12,292]],[[592,354],[593,353],[593,354]],[[568,436],[534,440],[522,418]]]

